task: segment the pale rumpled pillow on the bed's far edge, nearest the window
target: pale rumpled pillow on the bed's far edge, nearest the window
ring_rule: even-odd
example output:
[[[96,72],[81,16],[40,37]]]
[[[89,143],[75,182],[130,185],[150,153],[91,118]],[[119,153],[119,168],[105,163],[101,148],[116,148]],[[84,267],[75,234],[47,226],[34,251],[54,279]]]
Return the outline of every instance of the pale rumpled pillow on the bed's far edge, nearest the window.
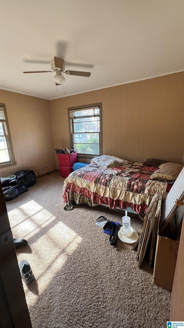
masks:
[[[122,166],[125,163],[127,164],[128,161],[115,156],[102,155],[92,158],[91,163],[95,163],[107,169],[116,166]]]

